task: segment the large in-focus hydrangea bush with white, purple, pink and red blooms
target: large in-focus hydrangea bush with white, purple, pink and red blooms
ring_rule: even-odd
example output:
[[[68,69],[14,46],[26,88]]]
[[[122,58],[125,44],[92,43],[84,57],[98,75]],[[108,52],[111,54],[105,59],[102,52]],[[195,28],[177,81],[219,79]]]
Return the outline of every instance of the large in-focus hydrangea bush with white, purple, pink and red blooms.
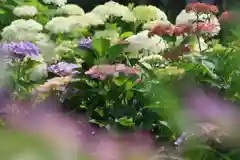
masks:
[[[0,9],[12,21],[1,30],[0,51],[14,100],[54,97],[98,127],[146,130],[177,145],[192,129],[179,117],[184,81],[239,100],[238,41],[219,42],[230,13],[219,18],[216,6],[189,4],[172,24],[151,5],[109,1],[85,12],[65,0],[7,3]]]

